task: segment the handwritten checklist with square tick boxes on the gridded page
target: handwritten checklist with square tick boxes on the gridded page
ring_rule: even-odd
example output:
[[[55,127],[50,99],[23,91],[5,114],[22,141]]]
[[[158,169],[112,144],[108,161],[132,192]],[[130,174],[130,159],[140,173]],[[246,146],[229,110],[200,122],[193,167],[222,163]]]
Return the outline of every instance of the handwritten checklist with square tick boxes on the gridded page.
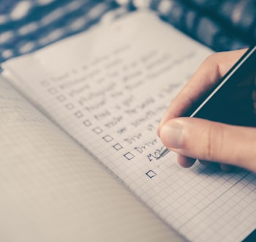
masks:
[[[137,156],[141,159],[142,155],[146,162],[152,162],[161,147],[155,132],[159,118],[172,91],[179,89],[190,73],[179,75],[176,82],[164,80],[167,86],[162,88],[156,80],[191,61],[195,52],[190,50],[175,57],[154,48],[130,57],[136,47],[122,45],[39,83],[56,105],[67,112],[65,119],[72,116],[71,124],[76,121],[80,130],[96,137],[86,137],[80,143],[86,142],[86,147],[90,147],[94,140],[102,139],[108,150],[121,155],[124,161]],[[146,170],[145,174],[148,178],[157,175],[153,170]]]

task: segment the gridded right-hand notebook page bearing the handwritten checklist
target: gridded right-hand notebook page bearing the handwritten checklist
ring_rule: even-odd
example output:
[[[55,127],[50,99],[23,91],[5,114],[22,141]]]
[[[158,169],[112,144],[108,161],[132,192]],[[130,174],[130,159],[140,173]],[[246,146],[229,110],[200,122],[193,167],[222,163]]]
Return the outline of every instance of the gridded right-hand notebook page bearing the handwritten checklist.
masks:
[[[16,86],[190,241],[241,241],[255,228],[254,174],[200,165],[185,170],[172,153],[156,160],[162,114],[210,53],[153,14],[135,12],[4,68]]]

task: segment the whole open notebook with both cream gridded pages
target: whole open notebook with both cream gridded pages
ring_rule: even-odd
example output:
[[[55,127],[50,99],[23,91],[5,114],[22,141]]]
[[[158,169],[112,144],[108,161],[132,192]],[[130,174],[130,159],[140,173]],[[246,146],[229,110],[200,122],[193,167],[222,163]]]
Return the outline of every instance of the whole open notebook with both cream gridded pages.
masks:
[[[2,64],[2,241],[246,238],[255,174],[156,160],[159,120],[209,54],[133,12]]]

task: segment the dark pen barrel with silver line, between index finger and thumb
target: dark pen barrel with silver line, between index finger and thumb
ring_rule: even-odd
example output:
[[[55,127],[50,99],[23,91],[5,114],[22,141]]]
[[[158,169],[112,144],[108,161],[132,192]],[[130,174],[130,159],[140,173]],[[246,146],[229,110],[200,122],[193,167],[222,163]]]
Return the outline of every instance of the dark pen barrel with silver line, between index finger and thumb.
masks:
[[[187,117],[205,118],[228,124],[255,126],[253,115],[252,90],[256,75],[256,45],[246,51],[236,64],[191,109]],[[242,86],[244,80],[252,80]],[[241,98],[233,97],[242,94]]]

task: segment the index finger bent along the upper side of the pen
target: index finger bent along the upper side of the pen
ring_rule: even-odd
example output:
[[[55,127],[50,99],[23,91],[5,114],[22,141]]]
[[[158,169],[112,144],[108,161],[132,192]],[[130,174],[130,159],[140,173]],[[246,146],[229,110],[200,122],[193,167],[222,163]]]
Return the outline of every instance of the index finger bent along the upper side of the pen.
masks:
[[[159,135],[162,125],[171,118],[182,116],[194,102],[197,101],[206,91],[211,89],[217,81],[236,63],[244,53],[244,50],[214,53],[206,58],[200,65],[195,75],[181,90],[176,99],[173,99],[167,108],[162,121],[159,124],[157,133]],[[256,95],[256,94],[255,94]]]

